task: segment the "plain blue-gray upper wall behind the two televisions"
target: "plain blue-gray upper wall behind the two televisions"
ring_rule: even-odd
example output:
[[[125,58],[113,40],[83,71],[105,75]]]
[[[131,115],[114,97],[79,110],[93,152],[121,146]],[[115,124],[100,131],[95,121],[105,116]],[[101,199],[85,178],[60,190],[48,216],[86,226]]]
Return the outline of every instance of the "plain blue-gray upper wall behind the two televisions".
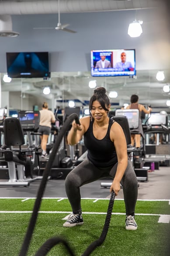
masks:
[[[127,34],[135,17],[143,20],[138,38]],[[170,66],[170,26],[165,10],[143,9],[61,14],[61,23],[69,23],[77,33],[55,29],[57,14],[13,15],[14,38],[0,38],[0,72],[7,72],[6,52],[49,51],[50,71],[90,71],[90,50],[136,50],[137,70],[166,69]],[[168,53],[168,54],[167,54]]]

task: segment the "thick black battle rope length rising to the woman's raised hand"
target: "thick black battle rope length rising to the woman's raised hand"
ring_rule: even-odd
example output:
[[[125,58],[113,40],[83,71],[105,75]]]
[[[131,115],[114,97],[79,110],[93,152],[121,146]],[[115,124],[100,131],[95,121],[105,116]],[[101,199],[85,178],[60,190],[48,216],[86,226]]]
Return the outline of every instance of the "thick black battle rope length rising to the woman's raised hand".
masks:
[[[46,184],[47,184],[47,180],[48,180],[48,177],[49,177],[50,169],[52,168],[52,163],[53,163],[53,161],[56,157],[56,153],[57,153],[59,145],[62,141],[62,137],[64,136],[68,127],[70,126],[70,123],[72,123],[74,119],[75,119],[76,123],[80,124],[79,119],[78,119],[78,115],[76,113],[73,113],[73,114],[69,115],[68,118],[66,119],[65,123],[63,124],[60,132],[59,132],[57,140],[55,141],[55,143],[53,145],[52,152],[49,156],[49,161],[46,164],[45,170],[43,172],[43,177],[42,177],[40,186],[38,188],[37,197],[36,197],[36,200],[35,200],[33,212],[32,212],[31,219],[30,219],[30,223],[28,225],[27,233],[25,235],[24,242],[22,244],[19,256],[26,256],[27,255],[29,243],[31,241],[31,236],[32,236],[32,233],[34,231],[35,223],[36,223],[36,220],[37,220],[37,217],[38,217],[38,211],[39,211],[39,208],[40,208],[40,205],[41,205],[41,201],[42,201],[42,197],[43,197],[45,187],[46,187]]]

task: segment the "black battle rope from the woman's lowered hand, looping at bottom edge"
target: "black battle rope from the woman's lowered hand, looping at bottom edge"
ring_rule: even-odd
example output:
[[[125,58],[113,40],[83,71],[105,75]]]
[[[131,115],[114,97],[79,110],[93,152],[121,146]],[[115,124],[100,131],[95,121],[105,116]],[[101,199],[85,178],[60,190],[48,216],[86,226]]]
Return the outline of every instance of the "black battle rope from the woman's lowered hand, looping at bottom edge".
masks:
[[[110,220],[111,220],[111,213],[112,213],[112,209],[113,209],[113,205],[114,205],[114,198],[115,198],[115,193],[114,191],[111,192],[111,198],[109,201],[109,206],[108,206],[108,212],[106,215],[106,219],[105,219],[105,223],[104,223],[104,228],[103,231],[101,233],[100,238],[98,238],[96,241],[92,242],[86,249],[86,251],[82,254],[82,256],[89,256],[91,252],[94,251],[94,249],[97,246],[100,246],[105,238],[106,235],[108,233],[108,228],[109,228],[109,224],[110,224]],[[62,242],[68,252],[70,253],[71,256],[75,256],[75,254],[71,251],[71,249],[69,248],[69,245],[67,244],[67,242],[65,240],[63,240],[63,238],[50,238],[49,240],[47,240],[38,250],[38,252],[35,254],[35,256],[45,256],[47,255],[47,253],[50,251],[50,249],[52,249],[53,246],[55,246],[56,244],[58,244],[59,242]]]

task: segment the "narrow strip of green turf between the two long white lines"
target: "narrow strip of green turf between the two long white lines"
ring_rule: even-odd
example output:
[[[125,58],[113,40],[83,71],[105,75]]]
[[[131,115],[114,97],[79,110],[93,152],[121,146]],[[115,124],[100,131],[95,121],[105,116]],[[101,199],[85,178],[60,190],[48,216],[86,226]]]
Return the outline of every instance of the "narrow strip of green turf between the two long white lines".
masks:
[[[24,198],[23,198],[24,200]],[[68,199],[42,199],[40,211],[71,211]],[[109,200],[82,199],[83,212],[107,212]],[[32,211],[35,199],[0,199],[0,211]],[[115,200],[113,213],[125,213],[124,200]],[[168,201],[137,201],[135,213],[170,214]]]

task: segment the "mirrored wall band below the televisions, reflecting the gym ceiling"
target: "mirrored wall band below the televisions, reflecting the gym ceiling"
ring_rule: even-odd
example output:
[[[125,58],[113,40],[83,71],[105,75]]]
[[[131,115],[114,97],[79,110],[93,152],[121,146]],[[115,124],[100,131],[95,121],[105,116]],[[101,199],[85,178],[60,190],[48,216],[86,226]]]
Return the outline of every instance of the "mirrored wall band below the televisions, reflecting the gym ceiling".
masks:
[[[163,86],[170,84],[170,70],[164,70],[165,79],[158,81],[158,70],[139,70],[135,78],[124,77],[92,77],[90,72],[52,72],[48,80],[42,78],[12,79],[10,83],[3,81],[1,73],[1,107],[12,110],[33,110],[33,106],[42,107],[47,101],[49,108],[64,108],[68,101],[74,100],[76,106],[88,108],[88,101],[94,92],[88,86],[90,80],[96,80],[97,87],[105,87],[107,92],[116,91],[117,98],[111,98],[111,108],[121,108],[129,104],[132,94],[139,95],[139,103],[151,105],[154,112],[165,110],[170,112],[167,100],[170,92],[164,92]],[[43,88],[49,87],[51,93],[43,94]]]

